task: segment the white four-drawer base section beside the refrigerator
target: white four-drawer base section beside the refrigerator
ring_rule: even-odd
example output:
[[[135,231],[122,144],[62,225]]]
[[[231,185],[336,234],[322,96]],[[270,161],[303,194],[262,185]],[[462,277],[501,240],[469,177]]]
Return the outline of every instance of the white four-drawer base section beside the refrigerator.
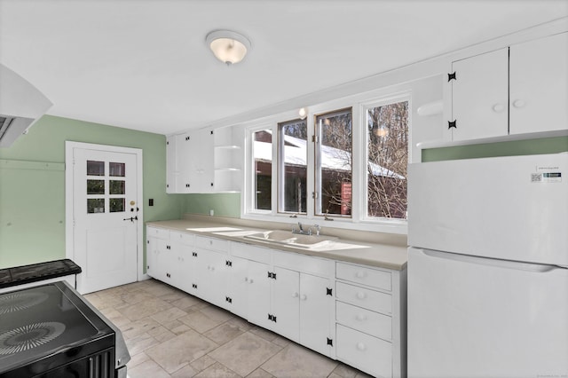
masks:
[[[406,271],[336,263],[336,357],[380,377],[406,376]]]

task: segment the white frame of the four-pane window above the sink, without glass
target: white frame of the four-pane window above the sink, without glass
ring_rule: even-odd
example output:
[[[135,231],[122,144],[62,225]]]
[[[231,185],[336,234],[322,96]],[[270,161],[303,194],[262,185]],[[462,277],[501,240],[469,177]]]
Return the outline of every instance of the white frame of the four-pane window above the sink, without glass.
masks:
[[[245,172],[243,177],[243,193],[241,195],[241,218],[261,222],[277,222],[281,224],[296,224],[298,221],[306,224],[320,224],[323,228],[333,227],[337,229],[357,230],[367,232],[384,232],[390,234],[406,234],[407,221],[406,219],[390,219],[382,217],[367,217],[367,120],[361,121],[366,117],[364,106],[375,104],[384,104],[389,101],[403,98],[408,101],[408,162],[412,161],[412,83],[399,84],[394,87],[378,89],[375,91],[368,91],[358,93],[349,97],[339,98],[322,102],[314,106],[308,107],[308,114],[306,116],[307,130],[308,130],[308,143],[307,143],[307,196],[306,208],[307,213],[296,214],[289,212],[279,212],[279,176],[278,172],[279,162],[272,164],[272,177],[277,177],[276,180],[272,179],[272,209],[271,210],[255,210],[254,206],[254,193],[251,193],[251,183],[254,177],[251,175],[254,170],[251,169],[254,161],[252,156],[252,133],[256,130],[272,130],[272,135],[279,135],[279,123],[287,122],[287,120],[294,120],[298,118],[297,109],[283,112],[280,114],[272,114],[264,118],[256,119],[251,122],[241,123],[245,130]],[[351,190],[353,193],[351,217],[332,217],[330,215],[328,220],[334,222],[327,222],[325,215],[316,215],[315,201],[310,201],[310,196],[315,192],[315,143],[312,137],[315,136],[315,114],[335,113],[347,108],[351,108],[351,122],[352,122],[352,170],[351,177]],[[414,109],[415,111],[415,109]],[[312,143],[311,143],[312,142]],[[278,161],[279,151],[278,144],[274,144],[272,138],[272,161]],[[362,168],[361,168],[362,167]],[[362,169],[362,171],[361,171]],[[364,197],[364,199],[363,199]],[[252,204],[252,206],[251,206]]]

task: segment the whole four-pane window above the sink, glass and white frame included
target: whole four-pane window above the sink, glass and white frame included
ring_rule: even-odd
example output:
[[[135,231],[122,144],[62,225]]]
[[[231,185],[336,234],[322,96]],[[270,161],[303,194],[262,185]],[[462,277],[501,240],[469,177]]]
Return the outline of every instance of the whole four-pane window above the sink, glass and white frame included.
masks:
[[[289,111],[251,122],[242,217],[406,232],[412,88],[312,106],[304,119]]]

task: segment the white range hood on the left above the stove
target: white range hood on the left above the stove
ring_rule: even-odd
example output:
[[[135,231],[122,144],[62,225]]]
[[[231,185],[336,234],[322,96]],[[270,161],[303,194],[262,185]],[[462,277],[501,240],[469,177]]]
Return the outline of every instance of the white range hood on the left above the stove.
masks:
[[[35,86],[0,64],[0,147],[12,146],[51,105]]]

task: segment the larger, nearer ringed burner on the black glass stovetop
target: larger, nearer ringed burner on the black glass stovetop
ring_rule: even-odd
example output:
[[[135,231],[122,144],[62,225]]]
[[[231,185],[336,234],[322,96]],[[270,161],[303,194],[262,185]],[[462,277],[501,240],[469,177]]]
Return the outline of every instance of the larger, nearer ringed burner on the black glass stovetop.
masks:
[[[45,321],[18,327],[0,334],[0,355],[30,350],[59,337],[65,331],[63,323]]]

